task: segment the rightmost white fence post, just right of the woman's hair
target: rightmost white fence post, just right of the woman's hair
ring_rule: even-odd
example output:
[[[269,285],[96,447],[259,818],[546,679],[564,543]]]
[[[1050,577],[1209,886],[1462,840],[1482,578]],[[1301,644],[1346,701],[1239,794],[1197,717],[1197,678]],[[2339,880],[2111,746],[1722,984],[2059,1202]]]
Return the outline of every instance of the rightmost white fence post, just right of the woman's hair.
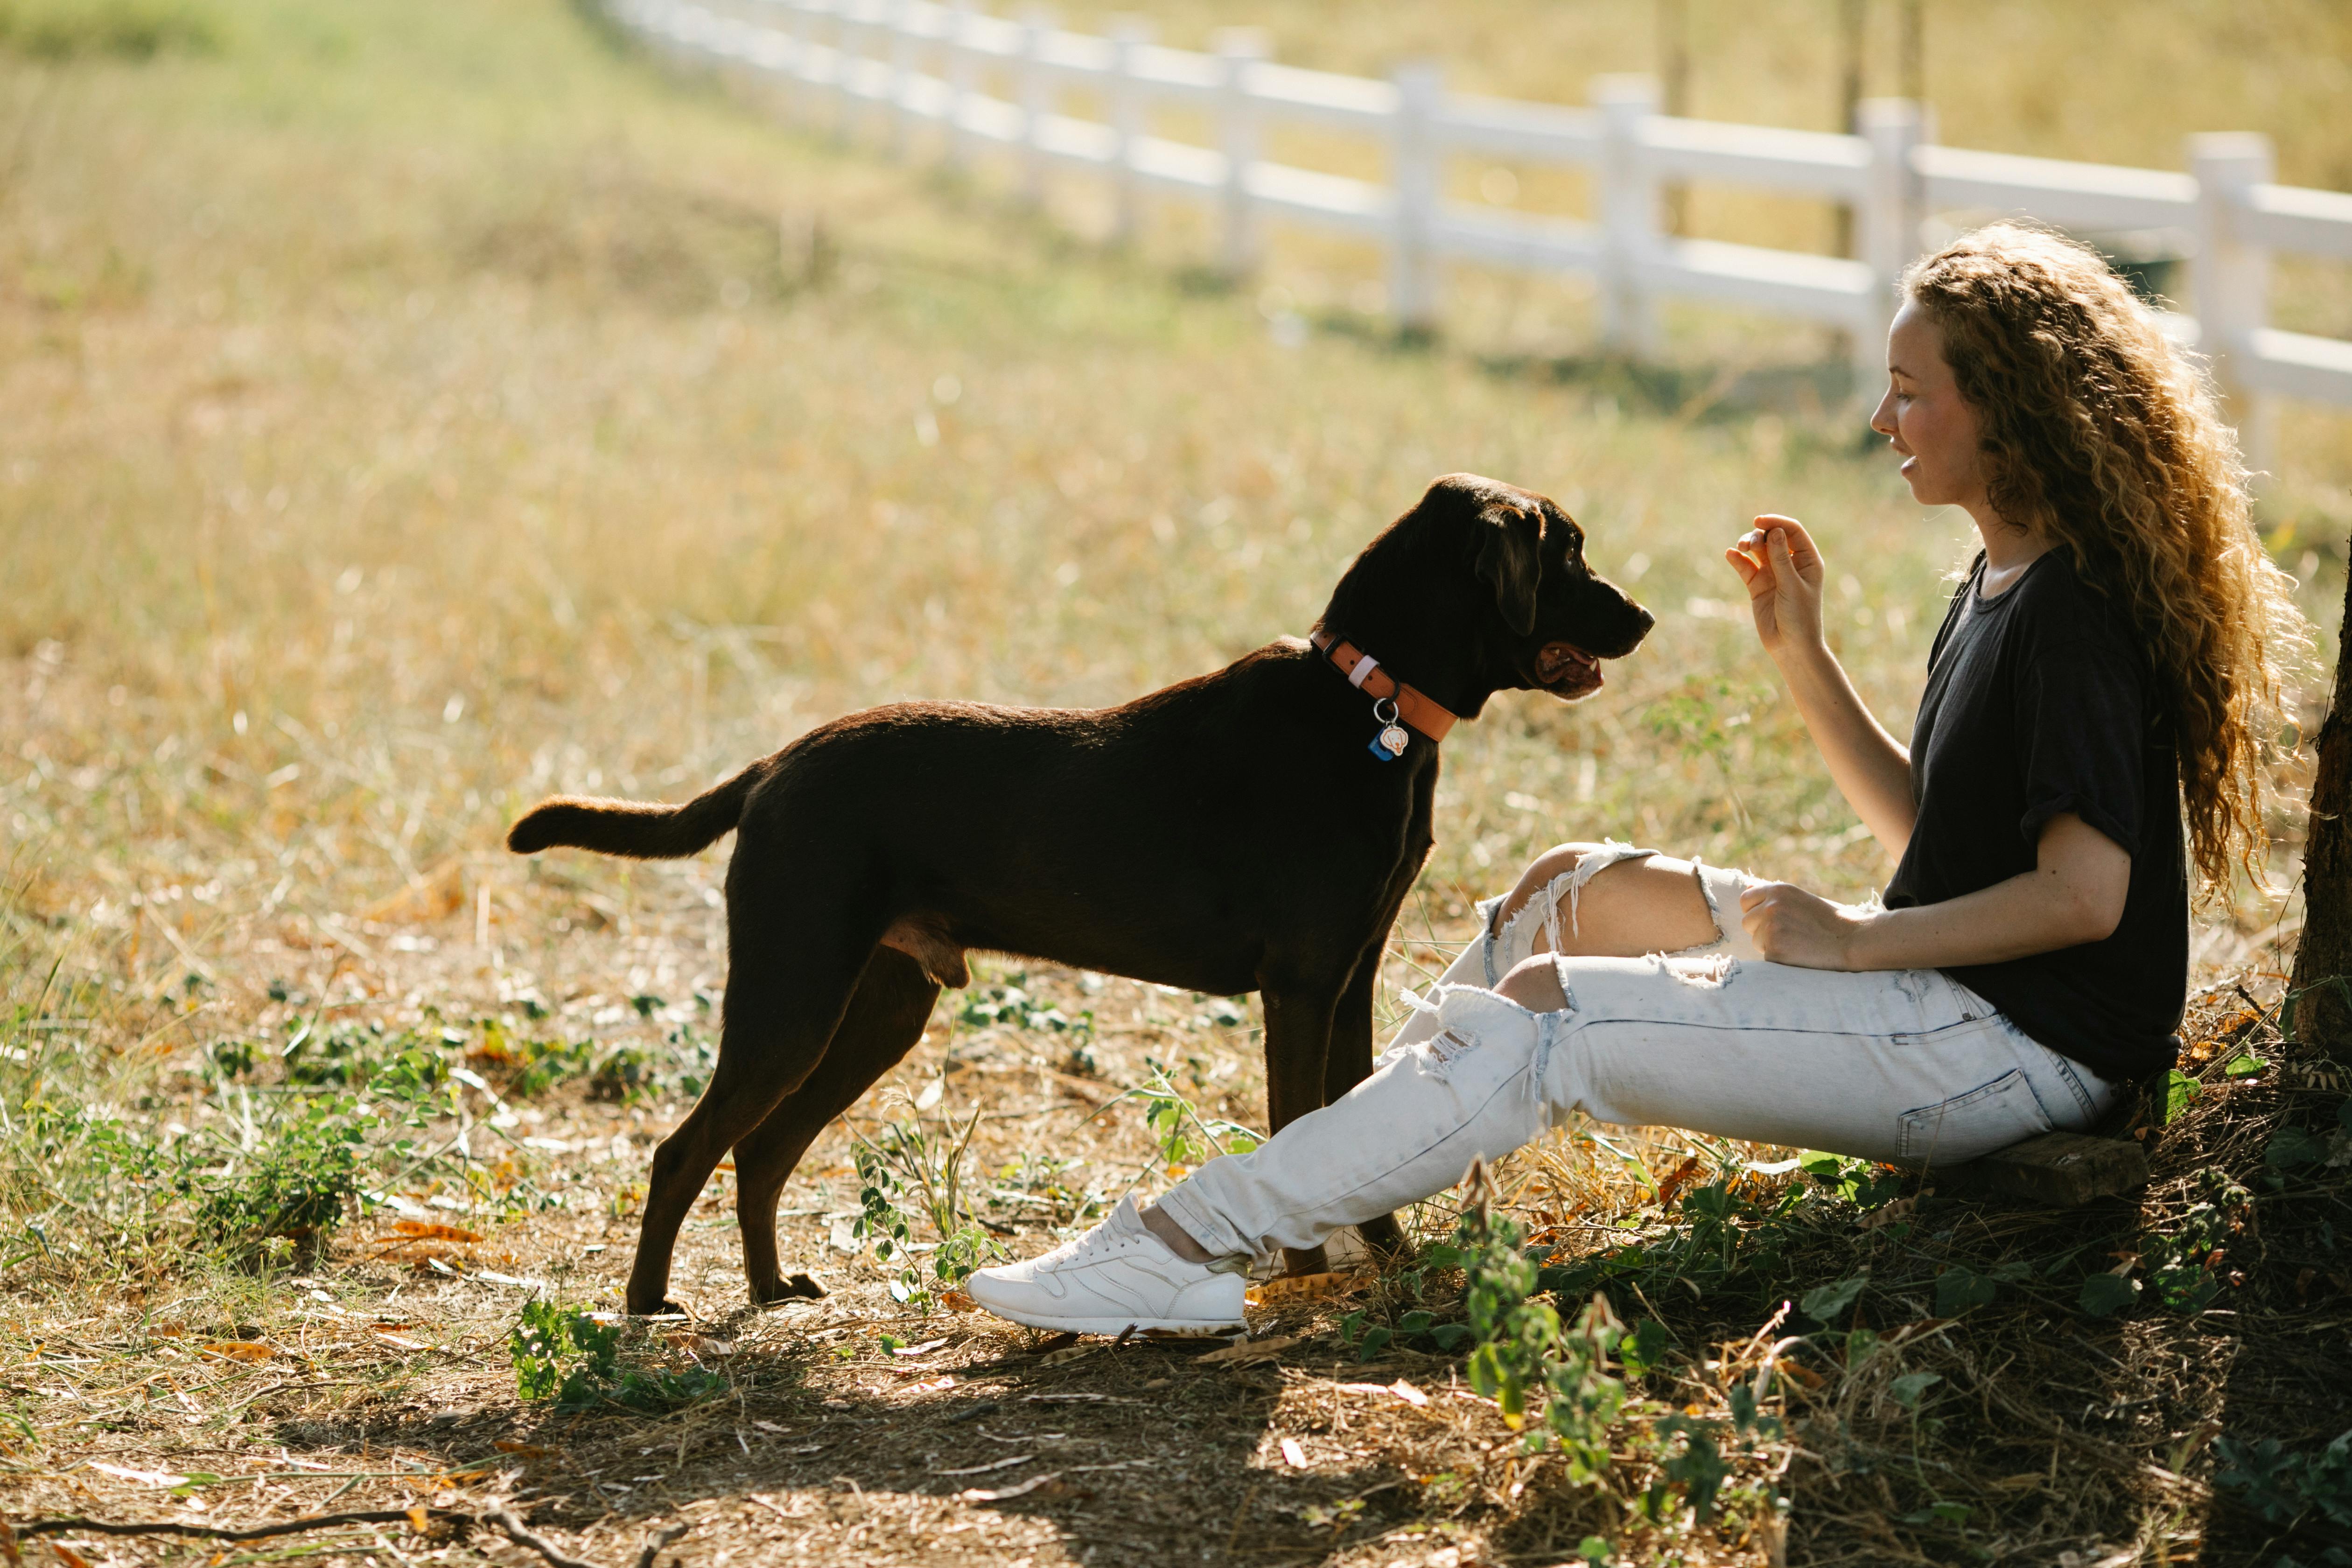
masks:
[[[2277,461],[2277,411],[2246,386],[2244,360],[2253,331],[2270,324],[2270,252],[2237,237],[2237,209],[2251,186],[2270,183],[2270,136],[2190,136],[2190,174],[2197,176],[2197,348],[2237,421],[2246,468],[2267,473]]]

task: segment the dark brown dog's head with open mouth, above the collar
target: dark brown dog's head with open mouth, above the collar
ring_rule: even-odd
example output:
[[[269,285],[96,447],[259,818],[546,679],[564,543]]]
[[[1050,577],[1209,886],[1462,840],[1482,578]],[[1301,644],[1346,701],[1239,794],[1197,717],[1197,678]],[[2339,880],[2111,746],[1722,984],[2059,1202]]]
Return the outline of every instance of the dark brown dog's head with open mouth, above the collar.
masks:
[[[1324,625],[1470,717],[1491,691],[1599,691],[1602,661],[1632,654],[1653,618],[1592,571],[1550,496],[1456,473],[1357,557]]]

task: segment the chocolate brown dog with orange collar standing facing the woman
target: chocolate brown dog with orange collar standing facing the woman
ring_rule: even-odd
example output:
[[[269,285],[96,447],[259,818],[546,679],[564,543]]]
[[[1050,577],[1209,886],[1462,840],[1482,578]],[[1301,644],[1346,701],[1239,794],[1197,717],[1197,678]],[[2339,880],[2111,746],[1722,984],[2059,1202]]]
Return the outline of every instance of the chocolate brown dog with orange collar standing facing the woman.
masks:
[[[870,708],[684,806],[536,806],[508,849],[670,858],[739,832],[720,1060],[654,1152],[628,1309],[670,1309],[677,1227],[729,1147],[753,1300],[814,1291],[779,1267],[776,1197],[915,1046],[938,990],[969,983],[974,947],[1265,992],[1268,1121],[1348,1093],[1371,1072],[1381,945],[1432,844],[1432,736],[1494,691],[1585,696],[1649,628],[1552,501],[1446,475],[1348,567],[1312,644],[1124,708]],[[1397,1241],[1392,1220],[1362,1229]]]

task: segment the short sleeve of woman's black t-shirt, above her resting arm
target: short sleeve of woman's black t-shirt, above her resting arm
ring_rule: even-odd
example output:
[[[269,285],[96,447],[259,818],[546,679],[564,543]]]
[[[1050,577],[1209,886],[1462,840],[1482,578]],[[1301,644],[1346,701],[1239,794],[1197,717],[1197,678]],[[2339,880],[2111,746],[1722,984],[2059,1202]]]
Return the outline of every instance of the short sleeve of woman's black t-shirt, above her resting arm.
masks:
[[[2131,656],[2096,637],[2039,646],[2025,661],[2016,724],[2025,764],[2018,832],[2027,844],[2072,811],[2124,853],[2140,853],[2145,696]]]

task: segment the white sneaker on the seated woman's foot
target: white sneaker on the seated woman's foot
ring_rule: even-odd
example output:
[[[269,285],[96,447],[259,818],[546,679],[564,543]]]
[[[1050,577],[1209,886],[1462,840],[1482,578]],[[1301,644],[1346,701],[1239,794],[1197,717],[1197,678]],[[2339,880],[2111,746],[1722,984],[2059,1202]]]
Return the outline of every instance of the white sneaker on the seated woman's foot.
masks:
[[[1084,1237],[1025,1262],[978,1269],[964,1291],[1002,1319],[1061,1333],[1232,1333],[1242,1328],[1240,1260],[1185,1262],[1124,1199]]]

